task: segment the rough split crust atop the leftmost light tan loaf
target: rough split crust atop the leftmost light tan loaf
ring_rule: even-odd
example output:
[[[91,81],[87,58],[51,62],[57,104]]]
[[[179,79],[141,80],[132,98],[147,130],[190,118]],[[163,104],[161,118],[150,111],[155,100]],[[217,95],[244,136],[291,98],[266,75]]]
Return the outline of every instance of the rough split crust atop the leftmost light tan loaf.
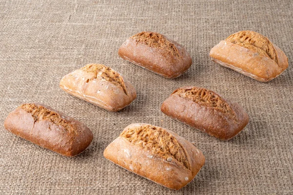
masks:
[[[89,80],[96,79],[98,77],[98,74],[104,78],[105,80],[112,82],[113,84],[121,87],[124,91],[124,93],[127,95],[126,85],[124,82],[124,79],[122,76],[114,71],[112,68],[105,66],[103,64],[87,64],[81,70],[84,70],[86,72],[95,73],[95,77],[91,78]],[[87,80],[87,82],[89,81]]]

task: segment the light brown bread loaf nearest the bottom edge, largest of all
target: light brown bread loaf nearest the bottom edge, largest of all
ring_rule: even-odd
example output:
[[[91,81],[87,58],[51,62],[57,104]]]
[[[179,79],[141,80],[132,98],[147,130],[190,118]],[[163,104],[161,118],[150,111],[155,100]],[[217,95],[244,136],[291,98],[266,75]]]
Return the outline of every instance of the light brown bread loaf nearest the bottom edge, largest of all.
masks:
[[[110,143],[105,158],[167,188],[186,186],[205,163],[197,148],[172,131],[145,123],[128,125]]]

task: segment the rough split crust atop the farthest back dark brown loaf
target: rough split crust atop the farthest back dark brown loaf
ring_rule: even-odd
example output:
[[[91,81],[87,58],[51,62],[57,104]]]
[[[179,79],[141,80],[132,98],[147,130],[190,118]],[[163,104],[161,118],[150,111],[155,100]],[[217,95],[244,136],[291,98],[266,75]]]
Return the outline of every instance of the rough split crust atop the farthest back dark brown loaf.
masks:
[[[176,58],[180,57],[179,51],[174,43],[169,41],[164,35],[155,32],[141,32],[133,35],[130,39],[136,42],[142,42],[149,47],[156,47],[166,50]]]

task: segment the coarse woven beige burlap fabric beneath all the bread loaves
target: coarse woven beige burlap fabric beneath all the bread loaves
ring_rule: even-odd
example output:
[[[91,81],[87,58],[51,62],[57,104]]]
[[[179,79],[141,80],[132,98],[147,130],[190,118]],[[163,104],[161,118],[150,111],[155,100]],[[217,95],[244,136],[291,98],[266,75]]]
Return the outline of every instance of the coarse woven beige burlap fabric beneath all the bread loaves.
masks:
[[[209,50],[249,29],[269,37],[289,68],[262,83],[215,64]],[[118,48],[131,35],[160,32],[184,45],[193,64],[167,79],[123,59]],[[1,0],[0,194],[293,194],[292,0]],[[59,88],[60,79],[87,63],[103,63],[135,86],[137,99],[111,113]],[[166,117],[160,105],[176,88],[206,87],[239,102],[250,116],[243,132],[220,141]],[[88,149],[68,158],[3,128],[10,111],[41,102],[84,122],[94,133]],[[103,157],[130,123],[170,129],[206,156],[195,179],[169,190]]]

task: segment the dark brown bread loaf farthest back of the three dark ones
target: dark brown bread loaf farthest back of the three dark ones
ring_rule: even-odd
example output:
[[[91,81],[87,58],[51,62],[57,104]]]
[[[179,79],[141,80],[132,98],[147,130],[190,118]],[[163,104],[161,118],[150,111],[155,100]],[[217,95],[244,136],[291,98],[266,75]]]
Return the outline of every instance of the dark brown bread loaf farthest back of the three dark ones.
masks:
[[[141,32],[126,40],[118,54],[138,66],[166,78],[176,78],[191,66],[186,49],[155,32]]]

